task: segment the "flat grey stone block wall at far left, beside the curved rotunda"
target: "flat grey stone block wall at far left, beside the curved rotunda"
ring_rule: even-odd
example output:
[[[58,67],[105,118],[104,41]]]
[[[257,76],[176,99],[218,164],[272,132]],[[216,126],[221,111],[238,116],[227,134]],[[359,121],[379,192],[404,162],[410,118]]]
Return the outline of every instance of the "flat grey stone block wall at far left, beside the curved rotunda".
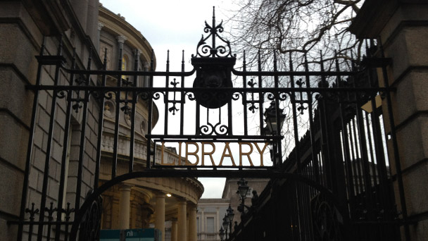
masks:
[[[46,55],[56,55],[59,35],[63,35],[63,55],[66,59],[65,68],[70,68],[73,47],[77,51],[77,66],[86,66],[89,49],[94,46],[92,38],[96,36],[98,1],[73,1],[80,7],[87,8],[86,24],[74,18],[73,6],[68,1],[52,1],[44,4],[42,1],[1,1],[0,2],[0,233],[5,240],[16,240],[17,225],[8,225],[7,221],[18,221],[20,215],[20,201],[23,190],[25,162],[27,159],[27,145],[30,137],[32,120],[32,104],[34,92],[26,89],[26,85],[34,84],[37,76],[37,59],[46,36]],[[88,38],[89,37],[89,38]],[[92,66],[101,66],[99,57],[95,56]],[[54,66],[44,66],[41,69],[42,85],[52,85],[55,75]],[[69,76],[61,71],[59,83],[68,83]],[[41,91],[37,103],[34,125],[34,145],[32,147],[29,170],[29,190],[26,207],[34,202],[38,208],[46,149],[48,144],[49,119],[53,92]],[[49,159],[49,178],[47,183],[47,201],[56,202],[58,199],[58,182],[61,170],[61,156],[63,152],[63,137],[65,125],[65,100],[57,99],[55,107],[56,118],[53,123],[53,139],[51,144],[51,158]],[[80,196],[83,198],[93,186],[94,158],[96,152],[97,126],[96,118],[99,107],[95,101],[88,105],[88,125],[85,133],[86,151],[84,153],[83,188]],[[72,204],[76,182],[76,156],[80,148],[80,130],[82,130],[82,114],[73,114],[73,132],[71,132],[70,166],[68,170],[67,200]],[[77,142],[76,142],[77,141]],[[74,190],[74,191],[73,191]],[[56,203],[54,206],[57,206]],[[61,205],[60,205],[61,206]],[[37,218],[37,217],[36,217]],[[37,230],[37,228],[35,228]],[[25,235],[24,235],[25,238]]]

